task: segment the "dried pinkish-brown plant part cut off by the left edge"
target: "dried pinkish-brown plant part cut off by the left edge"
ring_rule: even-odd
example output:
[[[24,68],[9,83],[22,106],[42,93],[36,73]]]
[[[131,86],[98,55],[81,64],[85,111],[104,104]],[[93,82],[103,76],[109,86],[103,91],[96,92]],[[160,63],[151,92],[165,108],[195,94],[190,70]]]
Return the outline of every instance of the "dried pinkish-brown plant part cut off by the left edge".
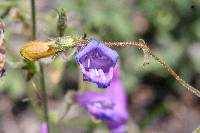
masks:
[[[4,27],[5,27],[4,23],[0,22],[0,77],[2,77],[5,72],[4,65],[6,62],[6,51],[3,45]]]

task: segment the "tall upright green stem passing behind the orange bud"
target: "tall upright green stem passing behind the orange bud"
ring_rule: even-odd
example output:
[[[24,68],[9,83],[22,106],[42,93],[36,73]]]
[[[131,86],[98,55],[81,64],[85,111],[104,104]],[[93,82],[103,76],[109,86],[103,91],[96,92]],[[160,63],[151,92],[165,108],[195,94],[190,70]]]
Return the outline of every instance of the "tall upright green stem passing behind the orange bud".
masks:
[[[36,11],[35,11],[35,0],[31,0],[31,15],[32,15],[32,40],[36,39]],[[41,91],[43,96],[44,105],[44,120],[47,123],[47,133],[50,133],[49,127],[49,116],[48,116],[48,96],[45,89],[45,79],[43,65],[40,63],[40,81],[41,81]]]

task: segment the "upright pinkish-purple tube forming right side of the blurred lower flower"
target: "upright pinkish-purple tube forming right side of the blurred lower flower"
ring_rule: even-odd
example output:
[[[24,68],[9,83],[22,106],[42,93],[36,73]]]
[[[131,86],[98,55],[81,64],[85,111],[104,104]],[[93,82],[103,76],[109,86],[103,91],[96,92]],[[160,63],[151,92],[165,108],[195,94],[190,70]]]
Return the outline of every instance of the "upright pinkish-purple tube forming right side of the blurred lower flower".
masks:
[[[106,89],[106,95],[114,102],[115,112],[114,122],[107,121],[112,133],[123,133],[126,130],[125,123],[128,120],[127,97],[124,87],[119,79],[118,66],[115,67],[113,79],[110,86]]]

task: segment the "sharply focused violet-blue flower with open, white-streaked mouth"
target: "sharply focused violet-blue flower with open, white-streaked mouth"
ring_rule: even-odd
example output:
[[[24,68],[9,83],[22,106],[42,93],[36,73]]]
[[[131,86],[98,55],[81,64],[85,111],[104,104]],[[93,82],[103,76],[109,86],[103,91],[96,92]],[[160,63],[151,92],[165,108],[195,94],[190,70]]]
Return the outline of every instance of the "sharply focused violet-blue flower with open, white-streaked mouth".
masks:
[[[95,39],[76,55],[84,80],[97,83],[99,88],[109,86],[117,59],[116,51]]]

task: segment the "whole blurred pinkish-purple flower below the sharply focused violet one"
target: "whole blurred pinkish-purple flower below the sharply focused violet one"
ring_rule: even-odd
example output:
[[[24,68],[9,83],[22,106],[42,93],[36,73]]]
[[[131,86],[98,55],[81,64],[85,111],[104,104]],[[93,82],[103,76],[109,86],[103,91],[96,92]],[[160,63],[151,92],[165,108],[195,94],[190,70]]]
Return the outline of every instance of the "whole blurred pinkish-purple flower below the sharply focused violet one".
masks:
[[[86,91],[76,96],[76,100],[89,114],[105,122],[112,133],[126,131],[127,98],[116,68],[104,93]]]

